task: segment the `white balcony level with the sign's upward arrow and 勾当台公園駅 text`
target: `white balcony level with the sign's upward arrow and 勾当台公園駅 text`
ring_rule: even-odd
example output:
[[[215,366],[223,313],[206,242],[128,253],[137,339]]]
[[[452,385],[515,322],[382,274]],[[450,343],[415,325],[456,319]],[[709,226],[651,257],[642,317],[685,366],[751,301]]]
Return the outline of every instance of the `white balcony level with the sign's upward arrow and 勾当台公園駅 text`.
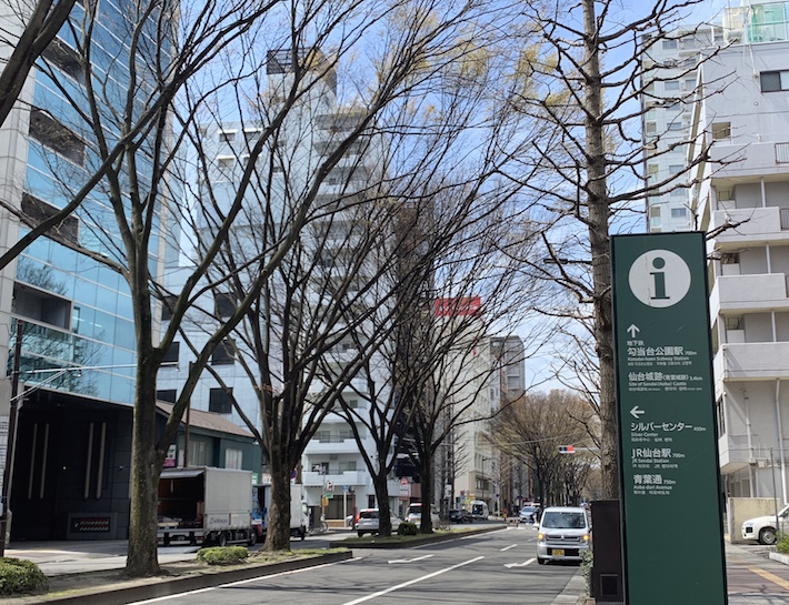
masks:
[[[722,344],[712,362],[719,380],[789,377],[789,342]]]

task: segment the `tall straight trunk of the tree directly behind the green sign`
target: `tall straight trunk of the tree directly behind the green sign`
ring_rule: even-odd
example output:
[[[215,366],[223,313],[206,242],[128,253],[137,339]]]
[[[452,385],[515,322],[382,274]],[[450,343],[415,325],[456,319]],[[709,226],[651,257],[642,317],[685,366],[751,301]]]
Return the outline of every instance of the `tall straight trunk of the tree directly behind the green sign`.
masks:
[[[619,497],[617,402],[613,376],[613,329],[611,323],[611,259],[609,208],[606,182],[606,147],[602,120],[602,77],[595,0],[583,0],[586,75],[586,145],[588,155],[589,244],[595,289],[595,346],[600,363],[600,463],[602,497]]]

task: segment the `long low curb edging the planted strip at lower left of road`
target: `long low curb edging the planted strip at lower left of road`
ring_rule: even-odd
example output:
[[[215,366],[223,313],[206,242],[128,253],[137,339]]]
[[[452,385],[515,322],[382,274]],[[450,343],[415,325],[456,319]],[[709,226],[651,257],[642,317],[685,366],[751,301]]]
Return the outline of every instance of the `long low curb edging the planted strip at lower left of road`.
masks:
[[[329,563],[338,563],[352,558],[353,553],[329,553],[326,555],[312,556],[300,561],[286,561],[282,563],[261,563],[250,565],[249,567],[240,567],[229,569],[227,572],[211,572],[204,574],[196,574],[189,577],[180,577],[173,579],[164,579],[162,582],[152,582],[140,586],[129,586],[124,588],[97,588],[91,593],[80,593],[68,596],[49,596],[41,595],[40,597],[22,597],[22,599],[2,601],[3,603],[57,603],[57,604],[73,604],[73,605],[126,605],[137,601],[147,601],[162,596],[170,596],[178,593],[187,593],[190,591],[199,591],[201,588],[210,588],[229,584],[232,582],[241,582],[256,577],[266,577],[269,575],[280,574],[283,572],[292,572],[296,569],[306,569],[318,565],[327,565]]]

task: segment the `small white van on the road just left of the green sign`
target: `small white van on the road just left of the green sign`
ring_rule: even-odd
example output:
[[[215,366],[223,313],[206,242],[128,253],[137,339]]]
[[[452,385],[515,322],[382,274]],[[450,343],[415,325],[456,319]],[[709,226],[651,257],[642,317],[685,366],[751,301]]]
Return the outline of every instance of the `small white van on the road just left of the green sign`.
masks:
[[[581,562],[589,549],[591,523],[580,506],[550,506],[542,513],[537,531],[537,563],[548,561]]]

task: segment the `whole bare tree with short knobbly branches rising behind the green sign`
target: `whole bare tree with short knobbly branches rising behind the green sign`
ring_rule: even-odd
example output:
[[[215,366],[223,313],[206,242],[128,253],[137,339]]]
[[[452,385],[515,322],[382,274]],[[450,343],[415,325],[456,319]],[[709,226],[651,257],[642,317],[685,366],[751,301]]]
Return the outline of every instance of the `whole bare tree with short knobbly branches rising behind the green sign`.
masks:
[[[571,7],[527,3],[543,46],[523,52],[528,68],[522,79],[530,85],[513,89],[511,100],[547,125],[523,153],[530,174],[535,164],[546,169],[545,179],[529,180],[542,210],[532,218],[543,224],[543,261],[527,262],[527,270],[567,290],[562,306],[545,311],[563,321],[571,341],[590,343],[595,351],[591,365],[575,364],[581,374],[580,385],[573,385],[591,395],[599,412],[606,498],[619,493],[610,232],[628,229],[628,216],[639,216],[649,196],[690,186],[693,165],[706,161],[699,157],[675,174],[650,177],[645,173],[641,142],[640,100],[653,94],[649,87],[656,79],[668,78],[656,73],[652,49],[663,40],[695,34],[692,29],[678,31],[696,3],[658,0],[638,9],[622,9],[613,0],[583,0]],[[696,63],[685,73],[695,69]],[[687,103],[691,95],[678,93],[660,102]],[[686,144],[687,140],[677,140],[650,148],[650,153],[673,153]],[[580,324],[573,329],[571,322]],[[566,356],[560,360],[573,364]]]

